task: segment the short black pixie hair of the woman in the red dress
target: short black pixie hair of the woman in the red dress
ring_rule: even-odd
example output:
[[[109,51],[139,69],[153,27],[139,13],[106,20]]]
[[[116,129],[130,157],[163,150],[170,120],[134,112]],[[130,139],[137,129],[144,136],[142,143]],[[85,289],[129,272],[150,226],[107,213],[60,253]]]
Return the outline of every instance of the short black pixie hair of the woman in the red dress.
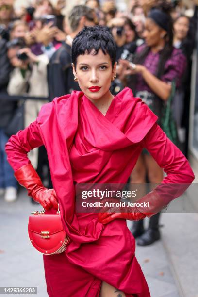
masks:
[[[109,54],[112,67],[116,61],[116,47],[112,34],[103,26],[84,27],[74,38],[71,47],[72,62],[76,67],[79,55],[90,54],[94,50],[97,55],[99,49],[104,54]]]

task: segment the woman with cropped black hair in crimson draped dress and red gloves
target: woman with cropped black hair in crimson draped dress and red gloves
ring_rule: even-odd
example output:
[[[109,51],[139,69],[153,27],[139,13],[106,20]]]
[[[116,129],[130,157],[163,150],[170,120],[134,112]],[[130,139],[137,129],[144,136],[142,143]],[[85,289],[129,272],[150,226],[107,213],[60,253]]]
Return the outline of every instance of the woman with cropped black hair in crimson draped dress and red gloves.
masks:
[[[129,88],[115,97],[110,93],[115,43],[105,28],[84,28],[73,40],[72,60],[82,92],[44,105],[37,119],[6,145],[16,179],[48,212],[54,212],[59,202],[71,238],[65,252],[44,255],[47,291],[49,297],[149,297],[126,219],[157,213],[182,191],[168,199],[163,189],[153,190],[141,198],[151,203],[149,212],[131,208],[124,213],[77,213],[75,185],[126,183],[144,147],[167,173],[163,185],[190,184],[194,174],[141,99],[134,98]],[[43,144],[54,189],[42,185],[27,157]]]

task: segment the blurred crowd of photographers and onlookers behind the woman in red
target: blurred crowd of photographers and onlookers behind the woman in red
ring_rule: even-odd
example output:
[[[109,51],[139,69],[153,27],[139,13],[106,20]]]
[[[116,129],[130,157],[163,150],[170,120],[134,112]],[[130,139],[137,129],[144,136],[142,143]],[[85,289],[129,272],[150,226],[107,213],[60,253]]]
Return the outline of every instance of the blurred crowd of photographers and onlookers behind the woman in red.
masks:
[[[176,136],[171,140],[187,155],[198,1],[188,9],[177,0],[131,0],[128,9],[120,11],[113,1],[101,4],[99,0],[86,0],[66,15],[62,14],[64,6],[63,0],[56,5],[49,0],[36,0],[31,7],[15,9],[12,0],[0,0],[0,195],[4,194],[8,202],[17,198],[17,182],[4,146],[11,136],[7,128],[21,101],[4,96],[35,97],[22,102],[27,127],[43,104],[80,90],[74,80],[70,52],[72,40],[84,26],[105,26],[114,37],[118,64],[112,94],[124,87],[132,88],[134,96],[158,115],[158,123],[164,129],[162,111],[172,100],[169,112],[175,131],[171,135]],[[33,149],[29,158],[44,184],[52,188],[45,148]],[[129,181],[156,184],[162,179],[163,170],[143,150]],[[146,231],[143,220],[134,223],[132,232],[139,245],[160,238],[159,216],[150,219]]]

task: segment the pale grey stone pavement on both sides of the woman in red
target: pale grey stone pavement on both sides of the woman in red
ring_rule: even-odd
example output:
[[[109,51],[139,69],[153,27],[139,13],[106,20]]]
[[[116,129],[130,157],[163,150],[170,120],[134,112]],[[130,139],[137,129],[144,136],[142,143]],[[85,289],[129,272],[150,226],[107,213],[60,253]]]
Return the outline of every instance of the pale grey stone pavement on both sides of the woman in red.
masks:
[[[23,189],[14,203],[0,197],[0,286],[36,286],[37,296],[47,297],[42,255],[27,233],[36,209]],[[162,241],[136,247],[151,297],[198,297],[198,214],[165,213],[161,221]]]

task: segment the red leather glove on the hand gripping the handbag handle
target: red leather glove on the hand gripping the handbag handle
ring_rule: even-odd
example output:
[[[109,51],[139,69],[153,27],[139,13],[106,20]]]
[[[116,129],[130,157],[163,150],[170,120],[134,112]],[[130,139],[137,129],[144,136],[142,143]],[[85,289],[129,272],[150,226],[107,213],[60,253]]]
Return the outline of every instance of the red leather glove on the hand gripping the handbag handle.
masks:
[[[54,189],[47,189],[43,186],[40,177],[32,164],[27,164],[15,171],[16,180],[28,190],[28,195],[34,201],[40,203],[43,208],[58,209],[57,196]]]

